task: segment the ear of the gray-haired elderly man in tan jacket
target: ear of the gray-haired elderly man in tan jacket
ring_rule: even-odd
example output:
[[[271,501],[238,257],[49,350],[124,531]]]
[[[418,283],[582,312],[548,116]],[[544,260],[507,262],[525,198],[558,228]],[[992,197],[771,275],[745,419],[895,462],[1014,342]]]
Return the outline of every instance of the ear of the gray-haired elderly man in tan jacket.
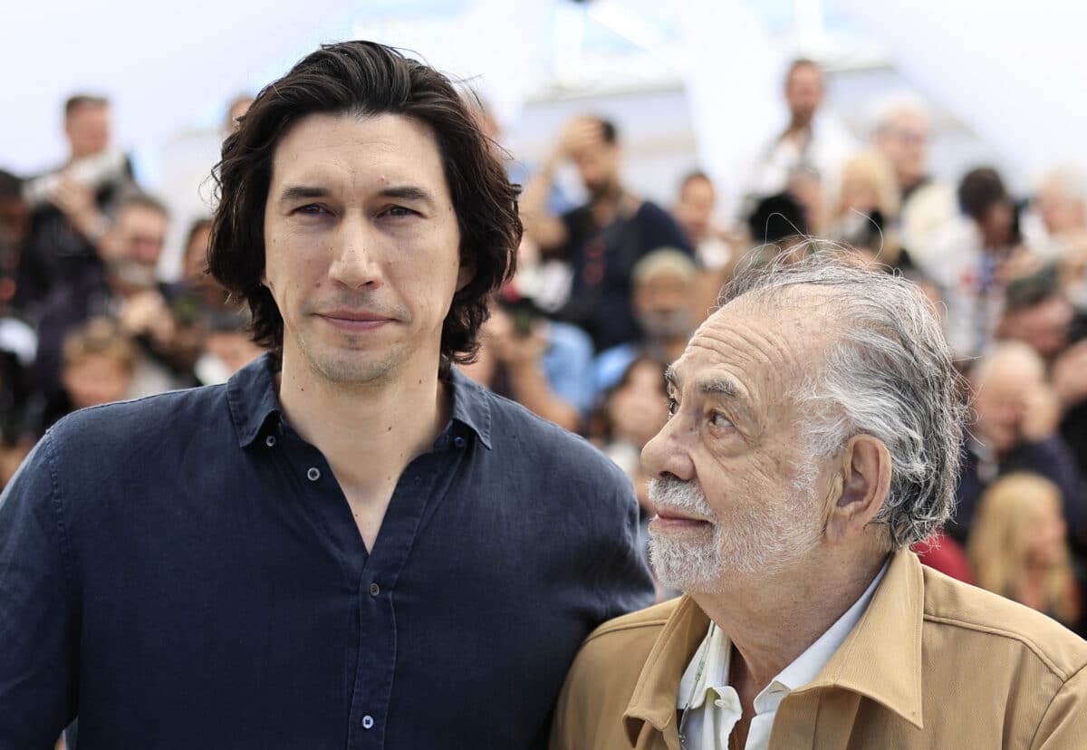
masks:
[[[834,484],[834,503],[827,509],[826,538],[830,543],[849,542],[864,534],[869,522],[883,508],[890,488],[890,451],[883,440],[857,435],[841,459],[841,474]]]

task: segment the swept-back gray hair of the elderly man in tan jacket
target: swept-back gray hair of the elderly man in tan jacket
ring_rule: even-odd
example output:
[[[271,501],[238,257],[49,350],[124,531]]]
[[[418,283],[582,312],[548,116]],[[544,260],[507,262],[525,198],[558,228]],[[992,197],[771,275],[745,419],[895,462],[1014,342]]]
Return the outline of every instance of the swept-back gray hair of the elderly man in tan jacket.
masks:
[[[954,507],[967,411],[939,320],[913,283],[840,248],[804,245],[800,260],[794,251],[740,270],[721,303],[742,297],[780,310],[814,301],[827,311],[834,340],[791,393],[807,411],[809,453],[830,457],[860,434],[882,440],[890,489],[873,523],[887,526],[892,549],[926,539]],[[803,288],[815,293],[798,296]]]

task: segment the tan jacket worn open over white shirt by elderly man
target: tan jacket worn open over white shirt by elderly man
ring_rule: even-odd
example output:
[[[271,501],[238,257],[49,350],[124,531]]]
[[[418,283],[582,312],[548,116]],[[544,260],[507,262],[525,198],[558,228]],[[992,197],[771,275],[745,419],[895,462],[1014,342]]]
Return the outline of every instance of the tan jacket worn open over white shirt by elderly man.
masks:
[[[679,678],[709,627],[683,597],[601,625],[555,710],[552,750],[679,750]],[[1087,641],[898,552],[771,750],[1087,749]]]

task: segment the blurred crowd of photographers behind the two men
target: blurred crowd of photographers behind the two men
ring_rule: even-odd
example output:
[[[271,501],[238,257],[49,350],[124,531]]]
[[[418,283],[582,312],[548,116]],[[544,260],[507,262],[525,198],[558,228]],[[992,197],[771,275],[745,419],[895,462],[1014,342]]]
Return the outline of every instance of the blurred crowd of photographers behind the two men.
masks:
[[[491,305],[468,375],[585,435],[653,510],[638,455],[667,418],[664,370],[741,264],[848,246],[920,284],[970,391],[954,522],[919,546],[926,563],[1085,633],[1087,582],[1087,173],[1053,165],[1030,195],[997,168],[933,176],[929,114],[887,99],[871,133],[826,127],[824,74],[797,60],[737,215],[691,165],[667,205],[623,183],[623,124],[570,122],[526,165],[516,277]],[[229,128],[246,99],[232,102]],[[221,383],[260,350],[247,312],[205,274],[210,222],[187,226],[179,280],[163,283],[171,207],[133,178],[110,140],[110,102],[65,104],[70,158],[38,176],[0,172],[0,428],[7,482],[68,411]],[[587,199],[557,174],[573,164]],[[211,164],[208,165],[210,171]],[[662,590],[661,597],[669,596]]]

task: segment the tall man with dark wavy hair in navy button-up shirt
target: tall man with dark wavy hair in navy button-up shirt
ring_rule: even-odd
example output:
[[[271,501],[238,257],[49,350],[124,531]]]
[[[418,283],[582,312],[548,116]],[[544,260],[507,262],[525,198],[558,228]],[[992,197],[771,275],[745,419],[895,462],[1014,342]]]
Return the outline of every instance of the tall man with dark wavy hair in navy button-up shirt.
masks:
[[[271,351],[79,412],[0,501],[0,746],[542,748],[652,597],[633,488],[471,384],[516,192],[433,68],[330,45],[223,146],[210,266]]]

